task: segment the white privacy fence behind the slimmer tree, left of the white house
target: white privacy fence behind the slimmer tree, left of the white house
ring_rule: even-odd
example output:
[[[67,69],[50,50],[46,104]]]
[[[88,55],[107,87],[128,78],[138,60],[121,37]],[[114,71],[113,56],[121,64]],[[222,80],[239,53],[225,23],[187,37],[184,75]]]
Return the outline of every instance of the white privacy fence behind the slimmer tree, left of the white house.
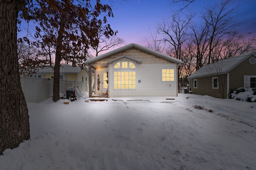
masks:
[[[20,82],[26,102],[42,102],[52,96],[53,79],[21,76]],[[60,93],[66,96],[66,89],[76,86],[78,86],[81,92],[88,91],[86,82],[60,80]]]

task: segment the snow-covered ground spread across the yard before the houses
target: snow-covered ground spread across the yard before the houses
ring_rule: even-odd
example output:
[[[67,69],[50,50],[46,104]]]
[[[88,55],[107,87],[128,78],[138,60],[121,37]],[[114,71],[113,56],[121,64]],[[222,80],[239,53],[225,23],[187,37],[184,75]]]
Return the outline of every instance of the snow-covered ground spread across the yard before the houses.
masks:
[[[132,101],[133,100],[133,101]],[[194,94],[28,103],[1,170],[255,170],[256,103]]]

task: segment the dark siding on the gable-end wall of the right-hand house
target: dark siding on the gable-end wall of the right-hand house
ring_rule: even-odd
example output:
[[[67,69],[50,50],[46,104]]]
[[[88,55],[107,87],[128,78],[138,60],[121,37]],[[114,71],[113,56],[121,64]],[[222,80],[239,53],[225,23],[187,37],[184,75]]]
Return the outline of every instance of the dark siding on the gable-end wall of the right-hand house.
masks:
[[[253,55],[251,56],[253,57]],[[244,75],[255,76],[256,75],[256,64],[250,64],[248,57],[238,66],[233,68],[229,73],[229,93],[232,93],[233,90],[244,87]]]

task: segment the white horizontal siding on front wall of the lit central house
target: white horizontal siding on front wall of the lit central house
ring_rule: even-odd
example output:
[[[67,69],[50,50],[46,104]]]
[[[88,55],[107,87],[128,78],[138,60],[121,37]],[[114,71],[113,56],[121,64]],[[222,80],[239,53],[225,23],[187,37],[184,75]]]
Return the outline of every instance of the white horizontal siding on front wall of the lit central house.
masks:
[[[114,90],[114,64],[109,64],[109,97],[177,96],[176,64],[136,64],[136,89],[129,90]],[[173,82],[161,81],[162,68],[174,69]]]

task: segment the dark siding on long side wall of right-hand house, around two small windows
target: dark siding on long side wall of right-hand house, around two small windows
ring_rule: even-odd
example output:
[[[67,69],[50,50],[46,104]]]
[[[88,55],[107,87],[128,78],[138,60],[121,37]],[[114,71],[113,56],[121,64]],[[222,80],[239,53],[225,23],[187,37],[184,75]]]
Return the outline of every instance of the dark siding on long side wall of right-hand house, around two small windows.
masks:
[[[192,78],[190,81],[190,87],[193,94],[199,95],[207,95],[215,98],[222,98],[221,91],[224,94],[224,98],[227,98],[227,74],[221,75],[221,79],[223,81],[223,85],[219,82],[219,88],[212,88],[212,77],[216,77],[216,75],[206,76],[206,77],[198,77]],[[194,88],[194,79],[197,79],[197,88]],[[224,88],[224,89],[223,89]]]

